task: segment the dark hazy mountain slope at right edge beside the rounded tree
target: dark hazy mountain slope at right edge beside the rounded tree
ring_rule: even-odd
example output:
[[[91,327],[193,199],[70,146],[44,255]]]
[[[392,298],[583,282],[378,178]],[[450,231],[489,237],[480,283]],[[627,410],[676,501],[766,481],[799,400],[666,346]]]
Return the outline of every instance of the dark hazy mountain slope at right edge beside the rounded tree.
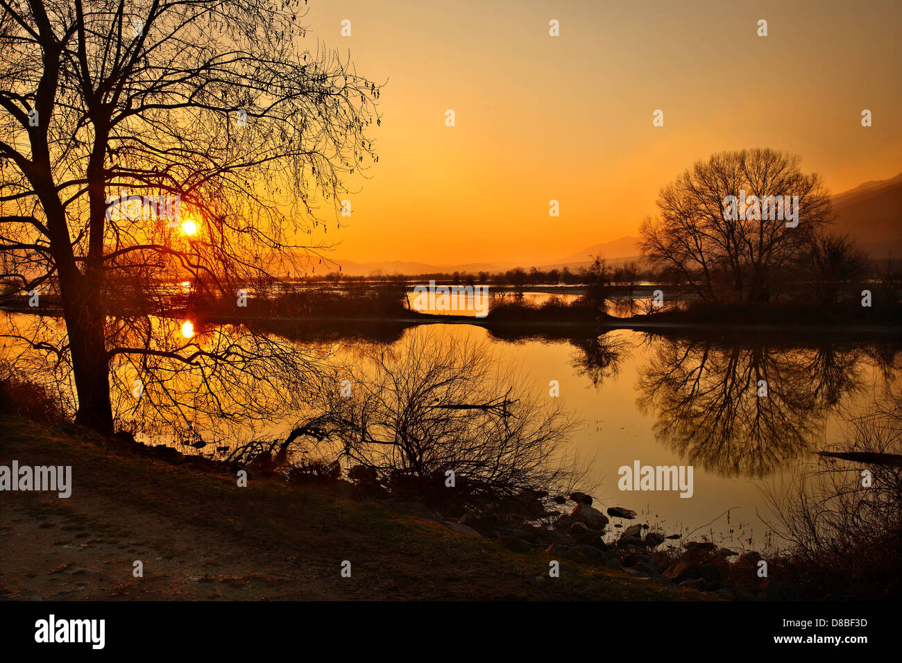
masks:
[[[876,258],[902,253],[902,173],[833,196],[833,230]]]

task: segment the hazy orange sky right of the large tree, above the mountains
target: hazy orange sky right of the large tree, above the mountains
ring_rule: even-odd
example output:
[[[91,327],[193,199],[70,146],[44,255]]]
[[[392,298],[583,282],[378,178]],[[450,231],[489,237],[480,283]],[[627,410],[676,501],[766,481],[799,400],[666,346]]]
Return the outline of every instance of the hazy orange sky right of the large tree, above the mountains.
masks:
[[[349,260],[553,262],[636,235],[721,150],[795,152],[834,193],[902,171],[899,0],[309,0],[306,23],[387,79]]]

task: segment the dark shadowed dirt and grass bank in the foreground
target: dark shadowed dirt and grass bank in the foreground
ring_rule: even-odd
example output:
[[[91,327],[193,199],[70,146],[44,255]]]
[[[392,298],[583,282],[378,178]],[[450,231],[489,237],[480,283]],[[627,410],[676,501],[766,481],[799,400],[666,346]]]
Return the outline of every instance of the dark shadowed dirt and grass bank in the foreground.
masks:
[[[339,488],[207,474],[0,417],[0,465],[72,465],[72,495],[0,493],[7,600],[704,598],[519,555]],[[343,560],[353,574],[341,577]],[[143,562],[143,578],[133,562]]]

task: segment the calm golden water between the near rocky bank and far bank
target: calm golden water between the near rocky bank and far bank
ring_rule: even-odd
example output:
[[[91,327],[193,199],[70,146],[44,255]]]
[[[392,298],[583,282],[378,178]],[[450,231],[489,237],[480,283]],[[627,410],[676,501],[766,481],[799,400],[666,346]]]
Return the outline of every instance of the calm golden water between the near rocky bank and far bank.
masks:
[[[838,441],[843,412],[861,412],[887,388],[898,391],[902,363],[895,342],[763,333],[688,338],[618,330],[584,338],[499,338],[483,327],[434,324],[396,330],[382,343],[403,344],[411,335],[436,345],[447,336],[485,341],[503,365],[518,369],[521,386],[549,399],[549,383],[557,381],[557,398],[582,421],[571,451],[589,467],[596,506],[638,511],[635,522],[665,535],[695,530],[693,539],[708,536],[737,549],[779,544],[769,538],[765,521],[774,519],[763,491],[786,483],[798,465],[812,461],[813,451]],[[368,343],[333,339],[334,361]],[[14,346],[5,353],[14,354]],[[768,386],[764,398],[761,380]],[[291,419],[242,429],[246,437],[280,437]],[[223,445],[235,440],[216,440],[204,453]],[[618,470],[636,461],[692,465],[692,497],[621,492]]]

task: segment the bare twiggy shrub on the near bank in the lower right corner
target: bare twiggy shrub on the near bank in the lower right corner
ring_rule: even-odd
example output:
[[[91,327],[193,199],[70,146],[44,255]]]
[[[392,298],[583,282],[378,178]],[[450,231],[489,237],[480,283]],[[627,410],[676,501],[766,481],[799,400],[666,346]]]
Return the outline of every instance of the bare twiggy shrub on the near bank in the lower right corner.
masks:
[[[766,491],[788,548],[780,574],[818,598],[897,598],[902,585],[902,394],[845,413],[842,439]]]

